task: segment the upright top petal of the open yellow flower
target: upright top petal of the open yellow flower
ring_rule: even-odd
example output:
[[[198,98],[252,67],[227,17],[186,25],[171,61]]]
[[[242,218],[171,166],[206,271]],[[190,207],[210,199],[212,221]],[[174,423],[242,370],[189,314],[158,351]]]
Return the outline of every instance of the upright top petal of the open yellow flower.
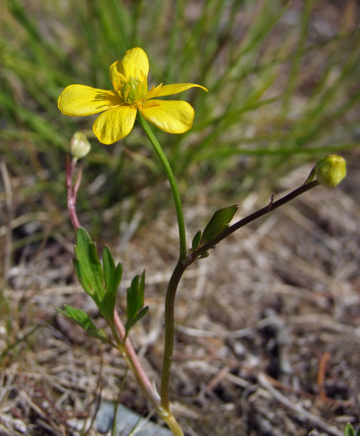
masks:
[[[135,77],[136,75],[142,78],[141,72],[147,75],[149,72],[149,61],[145,51],[142,48],[135,47],[126,51],[121,61],[112,64],[110,67],[111,82],[115,81],[113,78],[115,74],[117,77],[118,73],[121,73],[126,79],[129,76]]]

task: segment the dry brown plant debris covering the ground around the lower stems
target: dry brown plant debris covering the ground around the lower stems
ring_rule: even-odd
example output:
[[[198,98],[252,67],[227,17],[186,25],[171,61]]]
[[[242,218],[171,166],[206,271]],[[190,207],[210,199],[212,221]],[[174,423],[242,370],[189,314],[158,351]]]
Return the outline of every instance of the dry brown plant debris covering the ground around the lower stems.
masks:
[[[187,435],[314,431],[341,436],[346,422],[358,424],[358,165],[353,156],[342,187],[303,194],[221,242],[185,274],[177,294],[171,395]],[[298,186],[308,172],[305,166],[282,179],[276,197]],[[189,239],[214,211],[209,205],[214,200],[204,198],[204,191],[189,198],[193,205],[185,209]],[[236,221],[267,197],[263,192],[245,198]],[[140,208],[110,245],[124,265],[120,314],[129,280],[146,266],[149,315],[130,335],[159,385],[163,303],[176,262],[177,228],[170,211],[139,227],[142,216]],[[66,214],[56,225],[42,215],[22,217],[6,225],[31,223],[31,235],[42,232],[43,242],[16,250],[17,262],[7,271],[2,297],[7,309],[0,320],[0,433],[80,434],[100,397],[117,398],[125,363],[55,314],[53,304],[67,303],[102,323],[75,279],[73,236],[61,236],[67,234]],[[1,229],[3,243],[11,243],[7,229]],[[120,402],[144,415],[151,412],[129,373]]]

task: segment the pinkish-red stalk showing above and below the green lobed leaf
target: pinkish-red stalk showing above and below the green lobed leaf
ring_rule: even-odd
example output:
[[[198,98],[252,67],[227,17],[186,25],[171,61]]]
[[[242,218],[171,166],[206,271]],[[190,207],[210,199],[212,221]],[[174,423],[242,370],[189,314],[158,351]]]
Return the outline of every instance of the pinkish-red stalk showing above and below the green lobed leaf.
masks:
[[[78,215],[76,214],[75,210],[75,204],[76,204],[76,195],[78,193],[78,189],[80,187],[81,178],[82,178],[82,169],[80,168],[78,171],[78,176],[75,181],[75,186],[73,187],[72,181],[73,181],[73,175],[74,175],[74,169],[76,165],[76,159],[73,159],[70,164],[70,159],[68,156],[66,156],[65,160],[65,172],[66,172],[66,186],[68,188],[68,211],[70,214],[71,224],[73,225],[75,232],[80,227],[80,222],[78,220]],[[124,341],[125,337],[125,327],[122,324],[120,317],[116,310],[114,310],[114,324],[116,327],[116,330],[118,330],[120,338],[122,341]],[[153,388],[153,385],[151,384],[151,381],[149,380],[148,376],[146,375],[146,372],[144,371],[144,368],[141,366],[141,363],[139,361],[139,358],[137,357],[137,354],[134,350],[134,347],[132,346],[129,338],[126,338],[125,344],[124,344],[126,354],[129,358],[129,360],[132,363],[132,366],[135,370],[135,375],[139,379],[139,382],[143,386],[146,395],[150,399],[150,401],[153,403],[153,405],[156,407],[156,409],[160,409],[160,396],[156,392],[156,390]]]

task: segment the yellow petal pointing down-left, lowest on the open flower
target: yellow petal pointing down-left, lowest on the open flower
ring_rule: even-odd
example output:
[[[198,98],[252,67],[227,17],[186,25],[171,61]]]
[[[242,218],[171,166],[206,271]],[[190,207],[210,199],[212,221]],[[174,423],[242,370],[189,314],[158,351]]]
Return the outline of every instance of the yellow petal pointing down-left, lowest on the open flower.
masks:
[[[100,142],[112,144],[130,133],[135,118],[136,109],[127,105],[119,106],[99,115],[92,129]]]

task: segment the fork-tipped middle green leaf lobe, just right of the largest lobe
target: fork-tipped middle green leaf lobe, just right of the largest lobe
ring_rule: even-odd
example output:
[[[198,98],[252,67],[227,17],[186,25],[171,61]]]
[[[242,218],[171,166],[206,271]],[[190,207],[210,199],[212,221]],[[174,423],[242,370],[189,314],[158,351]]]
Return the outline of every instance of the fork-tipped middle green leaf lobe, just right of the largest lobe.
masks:
[[[106,291],[102,301],[102,314],[107,320],[112,321],[114,318],[116,292],[122,278],[122,265],[119,263],[115,267],[114,259],[107,245],[102,250],[102,264]]]

